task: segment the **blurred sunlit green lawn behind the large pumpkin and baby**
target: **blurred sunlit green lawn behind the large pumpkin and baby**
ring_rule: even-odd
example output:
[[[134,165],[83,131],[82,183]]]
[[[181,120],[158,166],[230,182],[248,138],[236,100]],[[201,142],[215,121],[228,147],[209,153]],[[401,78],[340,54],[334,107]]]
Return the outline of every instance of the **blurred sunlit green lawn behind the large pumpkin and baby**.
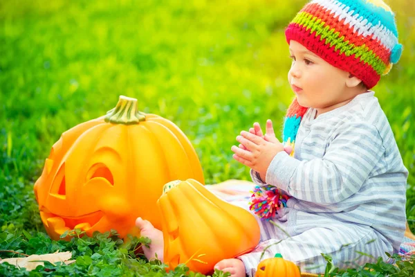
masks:
[[[410,172],[407,218],[415,230],[413,2],[389,2],[405,50],[374,90]],[[293,98],[284,27],[304,3],[1,1],[0,240],[10,224],[15,235],[44,233],[33,184],[50,147],[113,108],[120,94],[187,134],[208,184],[249,179],[230,147],[255,121],[281,125]]]

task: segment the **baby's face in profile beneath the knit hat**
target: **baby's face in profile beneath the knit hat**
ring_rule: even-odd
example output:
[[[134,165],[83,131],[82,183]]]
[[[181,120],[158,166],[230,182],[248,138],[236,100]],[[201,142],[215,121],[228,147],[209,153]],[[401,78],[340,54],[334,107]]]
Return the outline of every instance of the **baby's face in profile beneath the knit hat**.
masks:
[[[323,109],[347,100],[347,71],[332,66],[295,40],[290,42],[290,56],[293,64],[288,82],[299,105]]]

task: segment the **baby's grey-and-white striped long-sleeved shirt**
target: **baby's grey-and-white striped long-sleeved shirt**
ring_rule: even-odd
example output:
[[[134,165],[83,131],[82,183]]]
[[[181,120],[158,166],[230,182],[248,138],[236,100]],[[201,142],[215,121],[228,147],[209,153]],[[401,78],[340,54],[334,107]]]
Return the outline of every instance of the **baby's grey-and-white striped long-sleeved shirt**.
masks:
[[[397,253],[405,232],[408,171],[374,91],[317,118],[315,114],[316,109],[306,111],[295,156],[279,152],[266,172],[266,184],[292,197],[291,213],[367,226],[385,251]],[[251,176],[256,184],[265,184],[257,172],[251,170]],[[291,218],[298,221],[293,224],[306,220]]]

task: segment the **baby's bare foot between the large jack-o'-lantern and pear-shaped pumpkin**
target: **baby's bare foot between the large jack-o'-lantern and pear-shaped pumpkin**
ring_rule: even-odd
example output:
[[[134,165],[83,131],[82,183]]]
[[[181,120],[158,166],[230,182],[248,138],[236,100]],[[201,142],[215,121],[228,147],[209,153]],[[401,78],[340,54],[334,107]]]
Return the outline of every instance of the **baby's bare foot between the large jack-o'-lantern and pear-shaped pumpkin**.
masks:
[[[154,228],[153,224],[148,220],[142,220],[141,217],[136,219],[136,226],[140,229],[140,235],[142,237],[147,237],[151,240],[149,247],[142,246],[142,251],[144,251],[145,258],[147,260],[155,259],[156,254],[158,260],[163,262],[163,232]]]

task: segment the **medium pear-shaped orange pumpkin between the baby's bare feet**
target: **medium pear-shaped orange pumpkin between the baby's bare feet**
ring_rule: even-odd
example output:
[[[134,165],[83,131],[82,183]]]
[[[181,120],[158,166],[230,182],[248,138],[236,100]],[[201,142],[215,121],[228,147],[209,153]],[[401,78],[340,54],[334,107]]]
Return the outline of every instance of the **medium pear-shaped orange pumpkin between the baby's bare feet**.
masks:
[[[248,211],[214,196],[198,181],[172,181],[158,199],[164,262],[208,274],[214,265],[254,249],[259,225]]]

